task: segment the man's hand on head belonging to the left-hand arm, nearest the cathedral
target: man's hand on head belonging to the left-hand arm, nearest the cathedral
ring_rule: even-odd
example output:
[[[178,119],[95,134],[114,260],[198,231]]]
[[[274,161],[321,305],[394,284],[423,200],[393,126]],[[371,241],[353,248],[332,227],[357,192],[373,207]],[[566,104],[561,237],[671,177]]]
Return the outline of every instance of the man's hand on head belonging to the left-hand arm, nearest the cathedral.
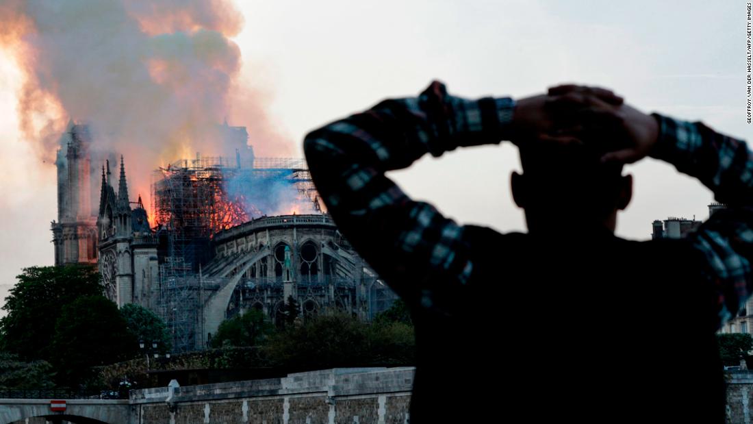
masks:
[[[581,96],[591,96],[607,105],[619,106],[623,103],[620,96],[610,90],[597,87],[560,86],[569,87],[569,91],[581,93]],[[520,147],[531,140],[555,142],[559,144],[580,143],[581,140],[572,133],[561,131],[564,126],[572,126],[572,119],[557,112],[559,103],[557,96],[540,94],[538,96],[518,99],[512,120],[511,141]]]

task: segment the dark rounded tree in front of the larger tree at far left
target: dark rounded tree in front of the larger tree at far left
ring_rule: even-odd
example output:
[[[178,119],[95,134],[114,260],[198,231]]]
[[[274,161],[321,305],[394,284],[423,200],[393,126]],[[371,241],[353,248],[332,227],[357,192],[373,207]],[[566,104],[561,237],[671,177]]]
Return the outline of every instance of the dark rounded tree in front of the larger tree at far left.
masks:
[[[133,358],[138,343],[111,300],[80,297],[62,308],[55,325],[51,359],[58,383],[76,387],[93,376],[91,367]]]

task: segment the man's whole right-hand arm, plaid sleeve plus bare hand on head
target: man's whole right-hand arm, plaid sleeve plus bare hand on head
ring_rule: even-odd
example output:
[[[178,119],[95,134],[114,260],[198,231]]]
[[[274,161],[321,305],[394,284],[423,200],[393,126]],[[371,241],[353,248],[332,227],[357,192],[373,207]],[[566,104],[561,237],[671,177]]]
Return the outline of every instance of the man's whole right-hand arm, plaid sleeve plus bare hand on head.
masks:
[[[586,124],[577,131],[579,136],[616,142],[606,146],[602,161],[633,163],[646,156],[665,160],[698,178],[727,205],[687,241],[706,258],[702,266],[715,293],[715,327],[734,316],[753,293],[753,153],[748,145],[700,122],[608,105],[588,87],[553,87],[549,95],[558,107],[578,109],[576,120]]]

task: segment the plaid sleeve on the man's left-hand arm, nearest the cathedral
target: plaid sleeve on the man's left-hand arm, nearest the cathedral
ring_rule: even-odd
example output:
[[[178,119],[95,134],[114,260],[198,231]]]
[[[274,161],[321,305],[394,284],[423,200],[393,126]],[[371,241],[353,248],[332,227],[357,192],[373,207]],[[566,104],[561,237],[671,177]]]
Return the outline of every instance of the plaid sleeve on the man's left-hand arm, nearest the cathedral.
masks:
[[[411,200],[385,172],[427,153],[501,142],[513,110],[510,98],[463,99],[434,82],[418,97],[385,100],[306,136],[306,160],[328,212],[407,302],[426,307],[433,291],[459,289],[473,259],[464,227]]]

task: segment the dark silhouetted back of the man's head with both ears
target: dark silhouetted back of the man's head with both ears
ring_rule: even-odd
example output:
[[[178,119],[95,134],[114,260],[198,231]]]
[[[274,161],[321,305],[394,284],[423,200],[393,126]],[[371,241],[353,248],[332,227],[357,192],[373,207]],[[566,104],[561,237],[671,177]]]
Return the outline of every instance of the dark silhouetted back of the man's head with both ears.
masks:
[[[587,145],[531,140],[520,143],[523,175],[511,177],[513,198],[526,212],[529,231],[614,231],[617,211],[633,193],[633,178],[619,163],[600,163]]]

